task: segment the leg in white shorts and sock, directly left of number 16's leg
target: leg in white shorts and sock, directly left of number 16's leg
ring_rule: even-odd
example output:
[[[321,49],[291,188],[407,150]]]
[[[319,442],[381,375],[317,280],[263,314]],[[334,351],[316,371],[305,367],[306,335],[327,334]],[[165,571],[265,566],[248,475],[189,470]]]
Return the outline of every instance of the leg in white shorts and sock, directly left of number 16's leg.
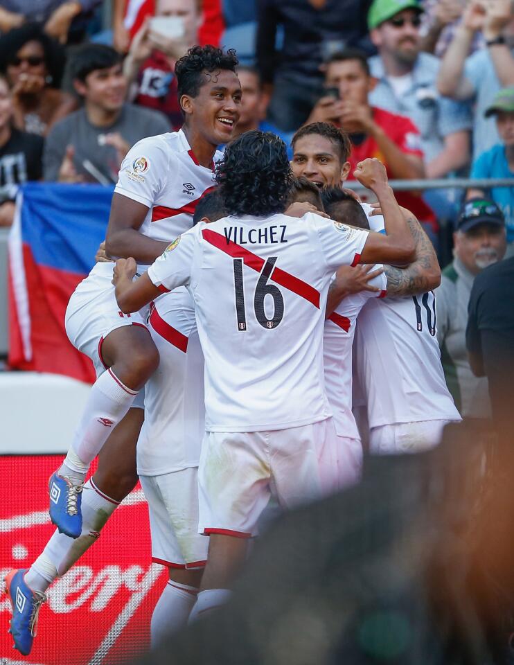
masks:
[[[208,539],[198,533],[198,472],[191,467],[141,476],[148,500],[152,561],[168,567],[170,580],[154,608],[152,648],[186,626],[207,558]]]

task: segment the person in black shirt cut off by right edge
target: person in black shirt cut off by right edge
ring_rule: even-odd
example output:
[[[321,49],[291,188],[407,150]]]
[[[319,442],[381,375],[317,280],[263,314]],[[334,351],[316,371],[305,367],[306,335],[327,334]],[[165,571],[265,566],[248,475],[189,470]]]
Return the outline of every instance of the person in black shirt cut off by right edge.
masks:
[[[488,378],[493,420],[502,432],[512,421],[514,405],[514,257],[477,275],[468,314],[471,369]]]

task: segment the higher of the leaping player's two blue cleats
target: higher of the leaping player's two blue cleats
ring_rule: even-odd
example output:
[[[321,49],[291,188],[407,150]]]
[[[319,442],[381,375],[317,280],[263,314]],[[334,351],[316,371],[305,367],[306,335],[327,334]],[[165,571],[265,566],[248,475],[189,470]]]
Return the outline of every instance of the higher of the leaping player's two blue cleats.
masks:
[[[66,476],[60,476],[55,471],[48,481],[50,493],[50,519],[57,526],[59,533],[65,533],[70,538],[78,538],[82,532],[82,504],[83,485],[73,485]]]

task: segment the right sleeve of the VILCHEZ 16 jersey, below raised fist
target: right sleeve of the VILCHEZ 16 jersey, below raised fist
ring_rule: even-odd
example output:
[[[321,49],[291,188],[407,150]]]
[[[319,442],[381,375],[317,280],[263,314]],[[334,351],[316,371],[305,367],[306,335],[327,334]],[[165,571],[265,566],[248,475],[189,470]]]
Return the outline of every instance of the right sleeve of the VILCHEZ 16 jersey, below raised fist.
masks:
[[[324,217],[308,213],[321,244],[328,272],[333,273],[340,265],[357,265],[369,232],[333,222]]]

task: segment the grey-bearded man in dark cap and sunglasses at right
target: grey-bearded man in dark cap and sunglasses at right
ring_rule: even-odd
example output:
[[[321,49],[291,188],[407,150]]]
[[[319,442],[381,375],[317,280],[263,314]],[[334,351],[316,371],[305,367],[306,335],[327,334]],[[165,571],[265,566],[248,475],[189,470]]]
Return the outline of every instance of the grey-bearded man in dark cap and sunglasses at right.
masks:
[[[468,303],[475,277],[502,260],[506,249],[504,215],[495,202],[476,197],[466,202],[454,233],[454,260],[445,267],[436,290],[437,339],[447,387],[461,416],[489,418],[485,378],[477,378],[466,351]]]

